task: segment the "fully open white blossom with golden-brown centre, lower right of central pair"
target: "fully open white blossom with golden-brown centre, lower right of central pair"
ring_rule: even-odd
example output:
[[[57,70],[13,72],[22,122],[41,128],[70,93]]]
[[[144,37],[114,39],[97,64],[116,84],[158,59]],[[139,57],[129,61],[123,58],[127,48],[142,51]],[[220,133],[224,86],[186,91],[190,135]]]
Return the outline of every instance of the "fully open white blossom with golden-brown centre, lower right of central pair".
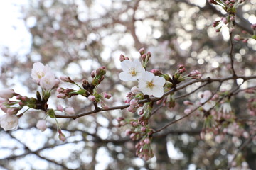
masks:
[[[165,79],[163,77],[154,76],[151,72],[143,72],[139,79],[139,89],[143,94],[153,95],[160,98],[164,95]]]

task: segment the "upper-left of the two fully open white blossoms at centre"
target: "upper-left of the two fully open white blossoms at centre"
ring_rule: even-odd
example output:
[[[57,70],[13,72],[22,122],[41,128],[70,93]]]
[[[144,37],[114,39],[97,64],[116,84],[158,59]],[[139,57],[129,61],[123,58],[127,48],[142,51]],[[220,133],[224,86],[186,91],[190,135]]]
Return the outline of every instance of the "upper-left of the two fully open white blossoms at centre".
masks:
[[[142,77],[142,73],[145,72],[145,69],[142,67],[142,63],[139,60],[124,60],[121,62],[121,67],[123,72],[119,74],[119,78],[122,81],[135,81]]]

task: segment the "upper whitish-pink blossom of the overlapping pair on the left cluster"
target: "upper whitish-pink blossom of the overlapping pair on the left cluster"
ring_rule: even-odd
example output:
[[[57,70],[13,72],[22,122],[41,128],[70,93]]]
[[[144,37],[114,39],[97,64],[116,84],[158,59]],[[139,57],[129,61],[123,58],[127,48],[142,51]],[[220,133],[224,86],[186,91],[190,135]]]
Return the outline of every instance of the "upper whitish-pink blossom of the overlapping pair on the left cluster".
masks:
[[[46,75],[46,73],[51,72],[48,65],[43,65],[41,62],[36,62],[33,64],[33,69],[31,70],[31,77],[36,83],[39,83],[41,78]]]

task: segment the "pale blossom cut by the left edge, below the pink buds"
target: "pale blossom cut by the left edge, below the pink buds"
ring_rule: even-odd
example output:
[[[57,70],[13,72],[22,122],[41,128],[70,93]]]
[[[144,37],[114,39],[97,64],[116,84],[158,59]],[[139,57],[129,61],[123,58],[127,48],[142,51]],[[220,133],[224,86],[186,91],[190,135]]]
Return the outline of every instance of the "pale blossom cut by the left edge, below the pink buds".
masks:
[[[15,130],[18,127],[18,117],[16,115],[5,114],[0,117],[0,125],[4,130]]]

